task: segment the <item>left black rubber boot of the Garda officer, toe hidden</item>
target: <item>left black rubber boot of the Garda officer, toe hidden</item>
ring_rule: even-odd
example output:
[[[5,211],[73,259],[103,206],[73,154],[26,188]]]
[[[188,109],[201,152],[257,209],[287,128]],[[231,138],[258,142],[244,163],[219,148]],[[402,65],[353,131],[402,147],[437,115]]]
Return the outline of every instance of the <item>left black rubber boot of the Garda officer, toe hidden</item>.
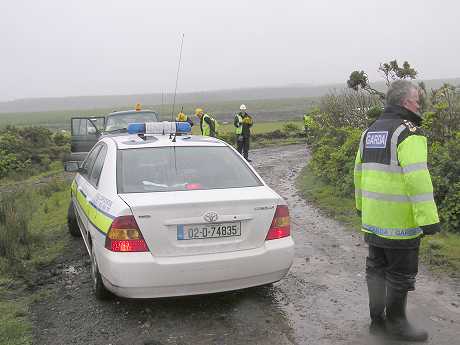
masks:
[[[385,332],[385,280],[378,276],[368,275],[367,291],[371,316],[369,332],[374,335],[381,335]]]

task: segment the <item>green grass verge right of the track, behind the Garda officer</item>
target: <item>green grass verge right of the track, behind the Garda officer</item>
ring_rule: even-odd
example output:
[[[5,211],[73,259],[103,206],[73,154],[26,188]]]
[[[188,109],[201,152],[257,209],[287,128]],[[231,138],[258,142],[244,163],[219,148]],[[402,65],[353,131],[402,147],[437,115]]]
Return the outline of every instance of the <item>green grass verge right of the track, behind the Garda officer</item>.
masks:
[[[359,231],[361,220],[356,215],[354,199],[337,196],[334,188],[313,175],[308,166],[299,174],[296,186],[306,200],[348,229]],[[420,257],[432,270],[456,274],[460,270],[460,234],[441,232],[425,236]]]

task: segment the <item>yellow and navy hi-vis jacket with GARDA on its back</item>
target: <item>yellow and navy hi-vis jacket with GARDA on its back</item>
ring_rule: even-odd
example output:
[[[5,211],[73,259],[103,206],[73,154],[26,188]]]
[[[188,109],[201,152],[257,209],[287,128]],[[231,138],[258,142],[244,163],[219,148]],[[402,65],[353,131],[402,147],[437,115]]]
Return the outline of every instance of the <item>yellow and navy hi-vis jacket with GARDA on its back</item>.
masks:
[[[423,233],[421,226],[439,223],[427,141],[408,121],[396,129],[388,123],[376,121],[361,136],[354,169],[356,209],[363,232],[409,240]]]

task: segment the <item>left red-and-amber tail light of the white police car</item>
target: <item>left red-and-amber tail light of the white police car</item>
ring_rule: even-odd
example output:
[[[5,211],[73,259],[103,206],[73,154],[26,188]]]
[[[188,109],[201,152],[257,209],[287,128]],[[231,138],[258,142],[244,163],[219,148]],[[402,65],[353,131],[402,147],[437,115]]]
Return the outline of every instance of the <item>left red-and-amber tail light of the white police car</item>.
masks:
[[[105,247],[112,252],[149,251],[134,216],[121,216],[113,220],[105,238]]]

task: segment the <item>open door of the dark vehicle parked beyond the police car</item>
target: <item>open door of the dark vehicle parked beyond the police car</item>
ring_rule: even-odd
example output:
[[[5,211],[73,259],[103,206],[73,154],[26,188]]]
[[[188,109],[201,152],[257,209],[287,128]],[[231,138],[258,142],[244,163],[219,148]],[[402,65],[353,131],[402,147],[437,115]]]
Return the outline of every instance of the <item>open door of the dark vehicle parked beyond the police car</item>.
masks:
[[[70,151],[89,152],[105,127],[105,117],[72,117]]]

